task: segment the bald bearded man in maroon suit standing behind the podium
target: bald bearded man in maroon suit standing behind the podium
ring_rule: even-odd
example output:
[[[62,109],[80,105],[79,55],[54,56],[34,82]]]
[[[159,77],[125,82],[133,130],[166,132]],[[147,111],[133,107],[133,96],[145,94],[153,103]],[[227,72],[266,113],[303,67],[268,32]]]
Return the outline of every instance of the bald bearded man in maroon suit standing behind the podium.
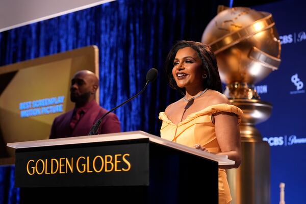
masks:
[[[94,123],[107,113],[94,99],[98,83],[98,78],[91,71],[82,70],[74,74],[70,100],[75,107],[54,119],[50,139],[88,135]],[[102,120],[98,134],[117,132],[120,132],[120,122],[114,113],[110,113]]]

